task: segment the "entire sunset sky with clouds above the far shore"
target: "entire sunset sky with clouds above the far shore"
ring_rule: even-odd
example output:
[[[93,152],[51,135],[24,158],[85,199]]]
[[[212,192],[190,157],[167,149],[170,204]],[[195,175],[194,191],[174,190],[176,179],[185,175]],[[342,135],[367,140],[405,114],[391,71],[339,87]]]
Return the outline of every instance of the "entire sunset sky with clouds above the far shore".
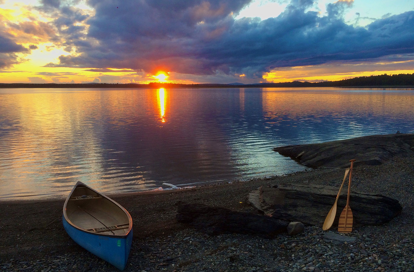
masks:
[[[0,83],[414,73],[414,0],[0,0]]]

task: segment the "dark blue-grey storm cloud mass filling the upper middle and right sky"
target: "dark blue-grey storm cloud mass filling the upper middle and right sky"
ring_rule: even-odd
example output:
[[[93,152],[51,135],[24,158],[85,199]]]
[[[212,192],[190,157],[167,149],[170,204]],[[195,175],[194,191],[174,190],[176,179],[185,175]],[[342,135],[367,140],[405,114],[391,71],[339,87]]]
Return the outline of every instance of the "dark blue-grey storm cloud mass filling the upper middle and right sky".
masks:
[[[249,0],[89,0],[95,15],[67,10],[55,24],[77,54],[59,64],[85,68],[173,71],[193,75],[262,73],[283,66],[355,61],[414,52],[414,12],[375,20],[367,28],[346,24],[352,1],[327,5],[327,14],[306,11],[313,0],[292,0],[278,17],[235,20]],[[60,5],[61,6],[61,5]],[[72,12],[72,13],[71,13]],[[70,15],[68,15],[70,14]],[[73,22],[89,25],[77,29]],[[62,28],[62,27],[61,27]],[[62,28],[63,29],[63,28]]]

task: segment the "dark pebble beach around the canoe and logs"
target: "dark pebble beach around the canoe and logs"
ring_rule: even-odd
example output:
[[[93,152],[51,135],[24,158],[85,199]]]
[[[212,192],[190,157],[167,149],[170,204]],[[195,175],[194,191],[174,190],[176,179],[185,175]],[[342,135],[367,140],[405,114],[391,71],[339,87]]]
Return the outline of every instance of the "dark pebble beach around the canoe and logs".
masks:
[[[247,196],[260,186],[315,183],[339,187],[342,177],[343,169],[319,168],[192,189],[109,195],[133,219],[134,238],[124,271],[414,272],[414,157],[354,168],[353,188],[397,199],[403,210],[386,224],[354,228],[349,234],[305,226],[299,234],[283,233],[274,239],[243,234],[212,236],[175,220],[179,203],[256,213]],[[0,202],[0,271],[119,271],[65,233],[60,218],[64,201]],[[330,234],[343,239],[331,239]]]

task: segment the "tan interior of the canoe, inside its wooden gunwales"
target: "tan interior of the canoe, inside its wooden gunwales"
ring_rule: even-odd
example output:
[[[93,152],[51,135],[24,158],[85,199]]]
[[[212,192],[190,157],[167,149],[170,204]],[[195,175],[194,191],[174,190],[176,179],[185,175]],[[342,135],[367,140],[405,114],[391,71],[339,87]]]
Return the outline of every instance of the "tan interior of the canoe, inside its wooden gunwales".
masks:
[[[70,222],[86,231],[99,234],[128,233],[129,219],[116,203],[94,190],[77,185],[66,204]]]

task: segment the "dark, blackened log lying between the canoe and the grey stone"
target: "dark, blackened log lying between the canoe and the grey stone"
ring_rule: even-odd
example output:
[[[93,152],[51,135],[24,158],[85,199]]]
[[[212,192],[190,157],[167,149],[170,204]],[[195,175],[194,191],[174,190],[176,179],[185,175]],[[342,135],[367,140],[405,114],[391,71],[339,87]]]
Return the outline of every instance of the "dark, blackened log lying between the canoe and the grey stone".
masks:
[[[241,233],[272,238],[286,232],[287,222],[275,218],[231,211],[203,204],[181,204],[176,219],[207,234]]]

